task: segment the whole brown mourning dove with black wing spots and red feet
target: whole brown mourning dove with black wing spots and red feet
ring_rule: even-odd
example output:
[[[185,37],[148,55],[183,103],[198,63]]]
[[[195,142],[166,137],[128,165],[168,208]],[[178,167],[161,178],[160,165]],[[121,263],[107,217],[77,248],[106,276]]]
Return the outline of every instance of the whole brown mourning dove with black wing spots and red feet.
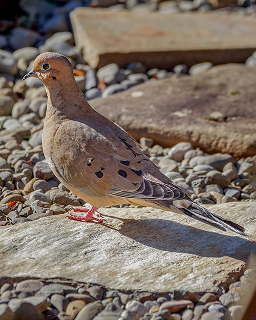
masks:
[[[71,219],[102,222],[93,216],[97,208],[133,204],[185,214],[246,236],[240,225],[191,200],[143,155],[134,138],[93,110],[65,56],[40,54],[23,79],[28,77],[40,79],[47,90],[42,134],[46,160],[63,185],[91,204],[90,208],[73,207]]]

